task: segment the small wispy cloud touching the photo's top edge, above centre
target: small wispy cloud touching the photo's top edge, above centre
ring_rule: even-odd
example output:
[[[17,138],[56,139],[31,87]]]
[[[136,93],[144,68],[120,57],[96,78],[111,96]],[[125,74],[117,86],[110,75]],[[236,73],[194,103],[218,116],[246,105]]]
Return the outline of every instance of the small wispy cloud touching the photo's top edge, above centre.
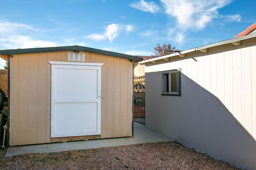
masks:
[[[138,10],[150,13],[156,13],[160,10],[159,6],[153,1],[146,2],[144,0],[140,0],[139,2],[131,3],[130,6]]]

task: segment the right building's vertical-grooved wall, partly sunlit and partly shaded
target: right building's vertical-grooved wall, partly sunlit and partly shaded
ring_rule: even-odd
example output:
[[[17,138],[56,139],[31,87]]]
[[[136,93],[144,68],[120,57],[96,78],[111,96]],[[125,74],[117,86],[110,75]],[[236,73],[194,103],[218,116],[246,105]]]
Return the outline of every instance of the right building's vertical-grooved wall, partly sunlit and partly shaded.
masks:
[[[186,58],[146,67],[146,127],[255,169],[256,39]],[[172,69],[181,69],[181,97],[161,95],[162,71]]]

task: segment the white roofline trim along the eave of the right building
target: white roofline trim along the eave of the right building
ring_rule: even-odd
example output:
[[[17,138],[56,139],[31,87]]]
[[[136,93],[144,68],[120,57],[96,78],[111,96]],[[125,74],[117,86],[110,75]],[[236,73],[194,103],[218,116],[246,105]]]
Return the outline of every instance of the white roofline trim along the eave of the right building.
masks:
[[[254,37],[256,37],[256,33],[252,33],[252,34],[249,34],[249,35],[246,35],[246,36],[243,36],[243,37],[237,37],[237,38],[233,38],[233,39],[220,41],[218,43],[213,43],[213,44],[210,44],[210,45],[205,45],[205,46],[201,46],[201,47],[188,49],[188,50],[185,50],[185,51],[182,51],[182,52],[179,52],[179,53],[173,53],[173,54],[165,55],[165,56],[162,56],[162,57],[157,57],[157,58],[153,58],[153,59],[150,59],[150,60],[141,61],[141,62],[139,62],[139,64],[146,64],[146,63],[149,63],[149,62],[154,64],[154,63],[156,63],[157,60],[164,60],[165,58],[174,57],[174,56],[185,57],[187,53],[195,52],[195,51],[198,51],[198,50],[202,52],[204,49],[207,49],[207,48],[217,47],[217,46],[230,44],[230,43],[236,44],[237,41],[242,41],[242,40],[250,39],[250,38],[254,38]]]

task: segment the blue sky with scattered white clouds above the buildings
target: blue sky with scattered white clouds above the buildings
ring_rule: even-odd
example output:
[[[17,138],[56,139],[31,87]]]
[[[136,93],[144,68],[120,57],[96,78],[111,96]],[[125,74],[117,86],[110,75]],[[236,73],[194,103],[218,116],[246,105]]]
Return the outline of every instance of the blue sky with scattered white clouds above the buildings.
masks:
[[[232,38],[256,22],[256,1],[0,1],[0,49],[82,45],[151,55]],[[0,61],[1,66],[4,64]]]

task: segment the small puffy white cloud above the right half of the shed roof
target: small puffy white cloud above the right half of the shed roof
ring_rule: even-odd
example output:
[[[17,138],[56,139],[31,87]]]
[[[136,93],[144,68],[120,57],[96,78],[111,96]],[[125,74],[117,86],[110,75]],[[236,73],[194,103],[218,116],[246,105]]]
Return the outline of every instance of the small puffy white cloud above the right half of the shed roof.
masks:
[[[92,39],[92,40],[105,40],[106,38],[108,38],[108,40],[110,42],[112,42],[114,39],[116,39],[119,35],[119,33],[121,32],[132,32],[134,30],[134,26],[133,25],[123,25],[123,24],[117,24],[117,23],[112,23],[107,25],[107,27],[105,28],[105,32],[103,32],[102,34],[99,33],[93,33],[91,35],[87,35],[84,38],[87,39]]]

